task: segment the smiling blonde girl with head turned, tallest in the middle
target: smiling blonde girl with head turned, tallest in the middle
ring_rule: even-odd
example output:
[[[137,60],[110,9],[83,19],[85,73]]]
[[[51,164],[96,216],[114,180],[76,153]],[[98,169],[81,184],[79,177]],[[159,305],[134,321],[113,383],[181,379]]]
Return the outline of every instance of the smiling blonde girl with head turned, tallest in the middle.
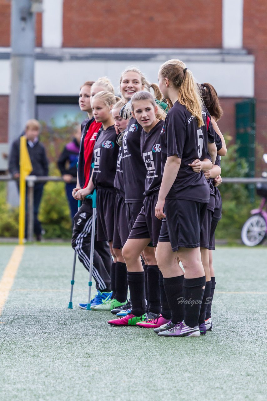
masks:
[[[135,67],[129,68],[121,75],[120,91],[126,102],[128,102],[135,93],[144,89],[149,91],[150,88],[153,89],[157,101],[162,99],[159,87],[155,84],[149,84],[139,69]],[[130,103],[126,103],[123,116],[124,118],[131,117]],[[143,200],[145,197],[145,177],[147,169],[140,154],[141,130],[142,127],[137,119],[131,117],[122,140],[122,168],[124,172],[125,202],[129,231],[132,229],[143,207]],[[154,249],[152,247],[146,247],[142,253],[142,257],[145,261],[144,271],[146,282],[149,280],[151,280],[151,282],[158,282],[159,269],[157,267]],[[147,284],[145,288],[147,298]],[[157,285],[154,288],[151,307],[148,300],[147,311],[151,313],[149,317],[157,316],[160,310],[159,285]]]

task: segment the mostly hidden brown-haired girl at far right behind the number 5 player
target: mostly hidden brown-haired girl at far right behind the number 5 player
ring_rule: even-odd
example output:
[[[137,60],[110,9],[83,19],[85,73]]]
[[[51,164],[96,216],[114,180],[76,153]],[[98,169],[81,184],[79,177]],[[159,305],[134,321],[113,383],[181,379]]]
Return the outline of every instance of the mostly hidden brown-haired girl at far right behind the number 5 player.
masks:
[[[209,295],[209,302],[207,303],[207,311],[206,311],[206,316],[205,316],[205,325],[207,330],[211,330],[213,323],[211,320],[211,305],[212,305],[212,300],[213,300],[213,294],[215,290],[215,273],[214,273],[214,268],[213,268],[213,259],[212,259],[212,249],[215,249],[215,229],[217,227],[218,221],[221,219],[221,210],[222,210],[222,202],[221,202],[221,194],[218,189],[218,185],[221,183],[221,156],[225,156],[227,149],[225,145],[225,140],[223,138],[223,135],[221,134],[221,131],[219,130],[219,127],[217,126],[217,121],[221,118],[223,115],[223,110],[221,108],[221,105],[219,103],[218,95],[217,92],[215,91],[214,87],[209,84],[209,83],[203,83],[201,84],[201,91],[202,91],[202,98],[205,103],[205,106],[207,107],[209,113],[211,114],[211,122],[213,125],[213,128],[215,129],[215,132],[221,139],[220,141],[216,141],[217,145],[217,150],[218,150],[218,155],[216,158],[215,165],[211,170],[208,172],[205,172],[206,178],[211,178],[214,186],[214,192],[215,192],[215,208],[214,208],[214,213],[212,216],[211,220],[211,230],[210,230],[210,238],[209,238],[209,270],[210,270],[210,276],[211,276],[211,292]],[[205,289],[206,290],[206,289]]]

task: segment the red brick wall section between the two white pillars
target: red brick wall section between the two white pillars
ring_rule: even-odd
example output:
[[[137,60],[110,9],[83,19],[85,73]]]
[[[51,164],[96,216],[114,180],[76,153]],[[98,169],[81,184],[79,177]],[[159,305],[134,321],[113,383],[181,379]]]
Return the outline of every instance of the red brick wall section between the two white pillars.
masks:
[[[221,0],[64,0],[63,46],[219,48],[221,10]]]

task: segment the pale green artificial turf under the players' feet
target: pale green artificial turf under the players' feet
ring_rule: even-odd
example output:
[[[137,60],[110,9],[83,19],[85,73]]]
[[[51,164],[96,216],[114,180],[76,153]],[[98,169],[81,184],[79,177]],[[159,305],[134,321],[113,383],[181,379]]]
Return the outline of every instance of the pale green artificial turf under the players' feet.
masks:
[[[1,275],[13,249],[0,246]],[[111,327],[110,312],[80,310],[80,262],[67,309],[72,259],[70,246],[25,247],[0,316],[1,400],[266,399],[266,248],[214,252],[214,329],[200,338]]]

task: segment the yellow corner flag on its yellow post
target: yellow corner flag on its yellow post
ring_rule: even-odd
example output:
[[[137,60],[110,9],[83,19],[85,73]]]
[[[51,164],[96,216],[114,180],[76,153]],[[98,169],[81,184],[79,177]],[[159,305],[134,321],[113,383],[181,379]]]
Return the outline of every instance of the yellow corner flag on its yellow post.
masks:
[[[25,236],[26,177],[32,172],[32,162],[27,149],[26,136],[20,137],[20,208],[18,219],[18,243],[23,244]]]

